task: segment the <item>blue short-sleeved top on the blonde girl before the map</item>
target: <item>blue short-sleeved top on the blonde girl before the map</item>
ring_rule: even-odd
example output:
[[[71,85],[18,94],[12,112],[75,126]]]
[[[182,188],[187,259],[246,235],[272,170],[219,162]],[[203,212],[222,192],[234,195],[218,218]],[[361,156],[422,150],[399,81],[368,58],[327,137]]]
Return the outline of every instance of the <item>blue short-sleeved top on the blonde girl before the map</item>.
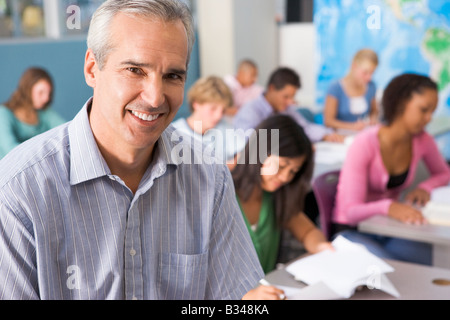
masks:
[[[340,81],[334,81],[328,88],[327,95],[333,96],[338,101],[336,119],[347,122],[356,122],[370,115],[372,101],[375,98],[376,86],[372,81],[367,85],[367,90],[362,97],[349,97],[342,87]],[[359,103],[365,102],[364,110],[353,111],[352,100],[360,100]],[[358,101],[356,101],[358,102]]]

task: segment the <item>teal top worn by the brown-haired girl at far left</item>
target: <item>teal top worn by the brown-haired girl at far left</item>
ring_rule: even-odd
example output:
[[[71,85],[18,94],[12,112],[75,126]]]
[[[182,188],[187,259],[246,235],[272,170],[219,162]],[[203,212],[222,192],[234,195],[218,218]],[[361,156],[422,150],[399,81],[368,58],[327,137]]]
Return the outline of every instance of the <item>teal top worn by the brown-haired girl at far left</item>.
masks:
[[[0,105],[0,159],[25,140],[65,122],[51,109],[39,110],[38,116],[38,124],[27,124],[17,119],[10,109]]]

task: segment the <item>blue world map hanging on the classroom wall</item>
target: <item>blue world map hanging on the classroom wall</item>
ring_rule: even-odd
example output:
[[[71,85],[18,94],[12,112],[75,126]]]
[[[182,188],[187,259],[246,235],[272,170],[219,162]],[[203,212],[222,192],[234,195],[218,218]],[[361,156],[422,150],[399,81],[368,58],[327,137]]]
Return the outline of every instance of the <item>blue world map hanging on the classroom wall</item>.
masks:
[[[439,86],[435,115],[450,115],[450,1],[315,0],[314,25],[319,108],[331,81],[345,76],[353,55],[368,47],[379,58],[378,97],[396,75],[426,74]],[[440,145],[450,158],[450,135]]]

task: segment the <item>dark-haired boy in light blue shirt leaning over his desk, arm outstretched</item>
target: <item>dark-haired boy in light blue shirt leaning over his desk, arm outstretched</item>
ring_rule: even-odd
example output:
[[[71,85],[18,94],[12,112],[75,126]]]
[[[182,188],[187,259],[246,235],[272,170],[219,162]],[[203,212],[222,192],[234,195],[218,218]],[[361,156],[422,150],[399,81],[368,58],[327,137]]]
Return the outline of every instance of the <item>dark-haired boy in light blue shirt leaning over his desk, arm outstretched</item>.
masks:
[[[322,125],[311,123],[300,115],[294,105],[297,90],[300,89],[300,76],[290,68],[278,68],[269,77],[266,91],[258,98],[247,102],[234,117],[236,129],[253,129],[274,113],[292,116],[303,127],[312,142],[342,142],[343,136]]]

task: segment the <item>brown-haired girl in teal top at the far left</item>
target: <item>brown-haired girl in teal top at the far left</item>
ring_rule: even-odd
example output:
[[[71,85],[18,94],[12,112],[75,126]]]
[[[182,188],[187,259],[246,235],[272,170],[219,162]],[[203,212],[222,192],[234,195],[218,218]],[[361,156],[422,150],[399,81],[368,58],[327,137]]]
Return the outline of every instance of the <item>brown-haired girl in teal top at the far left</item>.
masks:
[[[27,69],[10,99],[0,105],[0,158],[31,137],[65,122],[49,108],[52,98],[53,81],[48,72]]]

